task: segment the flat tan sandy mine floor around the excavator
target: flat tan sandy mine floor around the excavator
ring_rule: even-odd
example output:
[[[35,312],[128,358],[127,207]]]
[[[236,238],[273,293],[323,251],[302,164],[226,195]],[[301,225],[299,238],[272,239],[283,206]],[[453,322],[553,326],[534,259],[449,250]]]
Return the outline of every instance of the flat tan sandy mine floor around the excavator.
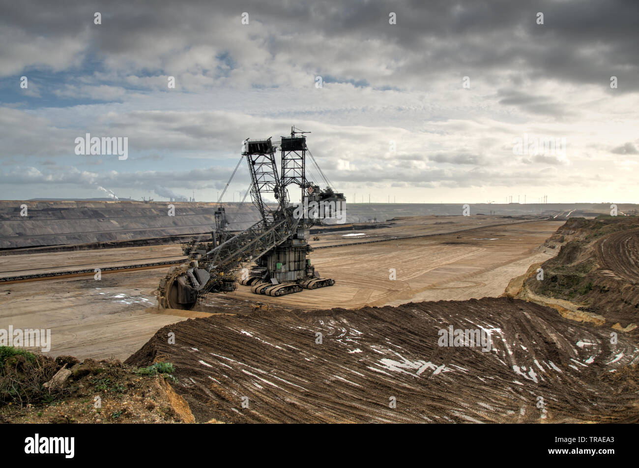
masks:
[[[555,254],[537,247],[561,224],[512,221],[500,217],[423,217],[397,221],[383,230],[353,231],[368,238],[319,234],[319,242],[312,244],[343,244],[504,223],[458,234],[317,249],[311,260],[322,276],[337,281],[335,286],[281,298],[256,296],[249,288],[239,286],[234,293],[210,297],[206,302],[211,305],[199,306],[200,312],[157,313],[153,309],[153,291],[166,268],[105,273],[101,281],[89,276],[0,285],[0,328],[51,329],[51,355],[126,359],[164,325],[209,312],[233,313],[256,300],[283,308],[353,309],[417,300],[497,297],[512,277],[525,273],[530,263]],[[10,272],[25,269],[73,270],[180,257],[179,245],[10,255],[0,256],[0,275],[12,276]],[[389,279],[390,269],[396,270],[395,280]]]

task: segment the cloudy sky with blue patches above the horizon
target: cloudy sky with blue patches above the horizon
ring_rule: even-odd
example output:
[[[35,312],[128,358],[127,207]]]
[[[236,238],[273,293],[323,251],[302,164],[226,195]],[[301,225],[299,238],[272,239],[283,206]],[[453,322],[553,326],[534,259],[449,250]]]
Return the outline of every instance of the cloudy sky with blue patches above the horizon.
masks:
[[[296,125],[348,201],[639,202],[638,1],[300,3],[1,0],[0,198],[213,201]]]

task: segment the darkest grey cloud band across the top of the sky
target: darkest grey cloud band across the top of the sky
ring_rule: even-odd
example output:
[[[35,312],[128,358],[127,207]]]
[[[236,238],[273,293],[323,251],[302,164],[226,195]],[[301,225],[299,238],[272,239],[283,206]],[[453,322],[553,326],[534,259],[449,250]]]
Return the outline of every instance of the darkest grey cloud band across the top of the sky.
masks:
[[[102,27],[94,27],[93,13],[102,13]],[[389,24],[389,13],[397,14],[397,24]],[[59,58],[23,58],[24,66],[38,61],[58,60],[70,66],[71,55],[93,54],[100,61],[127,56],[144,59],[144,66],[162,68],[154,54],[176,53],[197,46],[211,46],[215,31],[240,22],[248,12],[252,32],[273,40],[265,43],[270,56],[282,51],[312,52],[305,47],[334,49],[330,56],[341,64],[341,81],[387,86],[397,81],[426,78],[454,72],[457,75],[489,77],[508,71],[516,82],[518,75],[559,79],[608,86],[610,76],[619,78],[619,92],[639,88],[638,56],[639,2],[636,1],[359,1],[337,3],[313,1],[304,5],[281,2],[190,1],[130,3],[113,1],[4,1],[0,27],[11,27],[28,36],[45,38],[58,45]],[[537,12],[544,13],[544,25],[535,23]],[[82,36],[91,31],[90,36]],[[249,29],[240,34],[249,35]],[[298,43],[295,35],[316,37],[321,45]],[[282,37],[281,37],[282,36]],[[12,37],[17,37],[12,35]],[[12,47],[3,40],[0,50]],[[83,40],[88,40],[84,45]],[[380,51],[387,59],[392,77],[371,73],[356,76],[349,68],[357,51],[335,48],[338,42],[380,40],[389,47]],[[86,47],[82,52],[77,46]],[[65,49],[69,51],[65,56]],[[27,54],[29,51],[27,51]],[[35,52],[32,51],[35,54]],[[221,53],[221,52],[220,52]],[[386,54],[386,55],[385,55]],[[1,54],[0,54],[1,55]],[[220,55],[234,61],[232,56]],[[363,58],[362,58],[363,59]],[[398,61],[405,59],[403,63]],[[140,64],[138,64],[140,66]],[[247,64],[236,63],[238,67]],[[329,73],[330,63],[319,68]],[[197,68],[197,67],[196,67]],[[355,70],[353,68],[352,70]],[[6,70],[4,70],[6,73]],[[215,74],[215,70],[196,70]],[[360,73],[362,72],[360,70]],[[401,75],[401,79],[399,76]],[[407,85],[408,86],[408,85]],[[551,103],[530,106],[535,113],[551,113]]]

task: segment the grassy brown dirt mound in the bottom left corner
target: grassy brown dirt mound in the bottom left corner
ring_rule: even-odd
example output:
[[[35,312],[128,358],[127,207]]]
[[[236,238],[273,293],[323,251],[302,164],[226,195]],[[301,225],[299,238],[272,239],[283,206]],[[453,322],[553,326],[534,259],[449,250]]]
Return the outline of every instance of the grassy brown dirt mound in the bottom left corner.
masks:
[[[7,348],[0,348],[7,349]],[[36,388],[25,398],[24,393],[14,395],[13,402],[6,398],[0,402],[0,423],[194,423],[189,403],[176,394],[169,380],[171,375],[164,368],[137,369],[119,361],[94,361],[80,363],[70,356],[52,359],[23,353],[33,361],[45,360],[51,369],[46,373],[49,382],[36,382],[29,375],[14,379],[19,384]],[[0,377],[11,375],[9,368],[22,366],[24,356],[7,360]],[[38,377],[45,373],[38,373]],[[40,379],[42,380],[42,378]],[[1,389],[0,389],[1,390]],[[4,395],[4,393],[3,393]]]

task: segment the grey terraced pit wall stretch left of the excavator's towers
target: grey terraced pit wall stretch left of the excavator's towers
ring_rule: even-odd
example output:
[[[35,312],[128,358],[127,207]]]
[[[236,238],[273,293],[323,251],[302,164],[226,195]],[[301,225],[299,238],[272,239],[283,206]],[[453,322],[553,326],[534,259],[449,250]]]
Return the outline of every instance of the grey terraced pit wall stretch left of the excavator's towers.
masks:
[[[0,201],[0,249],[109,243],[197,235],[215,228],[216,203],[141,201]],[[20,215],[27,205],[27,216]],[[229,229],[258,220],[250,203],[224,204]],[[121,246],[119,246],[121,247]]]

